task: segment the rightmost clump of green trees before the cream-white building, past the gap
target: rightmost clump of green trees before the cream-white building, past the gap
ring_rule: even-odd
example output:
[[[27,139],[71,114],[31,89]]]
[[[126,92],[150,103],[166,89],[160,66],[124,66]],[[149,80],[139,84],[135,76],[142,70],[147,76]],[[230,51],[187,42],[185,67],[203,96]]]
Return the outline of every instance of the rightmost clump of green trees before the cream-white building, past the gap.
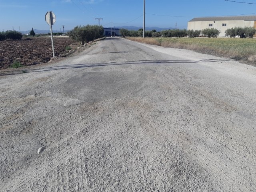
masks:
[[[235,37],[240,36],[240,38],[253,38],[256,33],[256,29],[253,27],[235,27],[230,28],[225,31],[226,36]]]

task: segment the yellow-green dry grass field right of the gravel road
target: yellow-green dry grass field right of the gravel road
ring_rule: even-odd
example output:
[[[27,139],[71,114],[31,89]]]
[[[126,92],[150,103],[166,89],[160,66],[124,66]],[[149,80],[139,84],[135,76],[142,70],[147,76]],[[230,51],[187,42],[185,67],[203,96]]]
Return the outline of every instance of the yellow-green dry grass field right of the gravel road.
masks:
[[[134,38],[128,39],[170,48],[194,50],[216,56],[256,62],[256,39],[246,38]]]

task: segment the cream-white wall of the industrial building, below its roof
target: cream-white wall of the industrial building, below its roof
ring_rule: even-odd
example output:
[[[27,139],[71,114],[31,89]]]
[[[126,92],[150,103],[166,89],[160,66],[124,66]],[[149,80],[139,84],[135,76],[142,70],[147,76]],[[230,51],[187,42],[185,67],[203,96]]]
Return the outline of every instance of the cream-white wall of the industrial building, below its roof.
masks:
[[[209,26],[212,24],[212,26]],[[226,24],[226,26],[222,26]],[[191,21],[188,22],[188,30],[203,30],[205,28],[217,28],[220,30],[220,37],[225,36],[225,31],[229,28],[234,27],[255,27],[256,23],[254,21],[244,21],[244,20],[226,20],[226,21]]]

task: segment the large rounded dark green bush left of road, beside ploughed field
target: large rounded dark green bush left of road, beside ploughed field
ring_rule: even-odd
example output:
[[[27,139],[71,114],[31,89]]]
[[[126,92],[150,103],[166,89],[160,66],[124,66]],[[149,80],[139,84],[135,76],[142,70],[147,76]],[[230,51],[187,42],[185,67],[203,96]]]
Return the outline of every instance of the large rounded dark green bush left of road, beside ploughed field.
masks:
[[[86,42],[102,38],[104,35],[104,28],[98,25],[86,25],[76,26],[73,30],[68,32],[68,35],[76,40],[82,42],[82,45]]]

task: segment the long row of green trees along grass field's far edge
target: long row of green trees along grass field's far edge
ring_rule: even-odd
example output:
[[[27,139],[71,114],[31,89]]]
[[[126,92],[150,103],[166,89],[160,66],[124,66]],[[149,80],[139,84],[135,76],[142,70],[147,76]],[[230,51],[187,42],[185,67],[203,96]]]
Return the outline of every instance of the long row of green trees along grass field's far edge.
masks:
[[[240,38],[252,38],[256,33],[256,29],[253,27],[236,27],[231,28],[225,31],[226,36],[235,37],[240,36]],[[216,28],[206,28],[203,30],[186,30],[186,29],[173,29],[173,30],[164,30],[161,32],[156,32],[156,30],[145,31],[145,37],[217,37],[220,34],[220,30]],[[143,29],[139,29],[138,31],[120,29],[121,36],[132,36],[132,37],[142,37]]]

